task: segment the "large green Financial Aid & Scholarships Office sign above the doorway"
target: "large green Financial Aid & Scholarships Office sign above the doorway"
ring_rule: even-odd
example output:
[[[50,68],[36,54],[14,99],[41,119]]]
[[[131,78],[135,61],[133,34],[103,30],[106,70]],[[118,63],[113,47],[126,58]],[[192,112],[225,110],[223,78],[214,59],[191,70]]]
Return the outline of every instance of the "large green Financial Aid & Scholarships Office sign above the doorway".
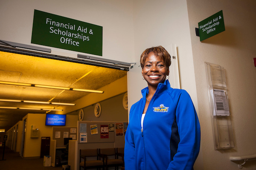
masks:
[[[102,26],[35,10],[31,43],[102,56]]]

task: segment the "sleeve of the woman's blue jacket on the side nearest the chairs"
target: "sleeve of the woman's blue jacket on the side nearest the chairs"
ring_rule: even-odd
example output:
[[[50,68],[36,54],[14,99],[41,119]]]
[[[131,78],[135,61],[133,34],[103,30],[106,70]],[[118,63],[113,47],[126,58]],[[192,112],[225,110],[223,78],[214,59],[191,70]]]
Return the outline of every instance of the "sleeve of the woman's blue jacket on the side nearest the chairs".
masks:
[[[133,108],[132,106],[131,111]],[[125,170],[136,170],[134,138],[131,134],[130,125],[128,125],[125,133]]]

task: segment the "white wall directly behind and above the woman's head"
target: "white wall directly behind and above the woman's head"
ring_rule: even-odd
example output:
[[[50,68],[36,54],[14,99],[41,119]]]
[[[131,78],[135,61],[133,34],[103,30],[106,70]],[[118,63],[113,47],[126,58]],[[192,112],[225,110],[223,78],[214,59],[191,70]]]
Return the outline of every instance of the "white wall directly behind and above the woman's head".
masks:
[[[186,0],[134,0],[134,40],[137,65],[128,72],[130,104],[141,98],[140,90],[147,86],[142,80],[140,55],[146,48],[177,45],[180,88],[189,92],[197,108],[195,74],[189,32]],[[138,87],[139,86],[139,87]]]

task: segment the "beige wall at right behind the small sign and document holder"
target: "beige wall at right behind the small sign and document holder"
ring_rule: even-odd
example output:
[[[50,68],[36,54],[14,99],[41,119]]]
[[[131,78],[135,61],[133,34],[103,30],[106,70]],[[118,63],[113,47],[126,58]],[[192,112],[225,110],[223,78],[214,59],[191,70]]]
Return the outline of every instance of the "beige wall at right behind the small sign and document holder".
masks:
[[[256,154],[256,1],[187,0],[204,170],[236,170],[230,156]],[[226,31],[200,42],[198,22],[223,10]],[[225,69],[235,148],[214,150],[204,62]],[[243,170],[255,170],[248,161]]]

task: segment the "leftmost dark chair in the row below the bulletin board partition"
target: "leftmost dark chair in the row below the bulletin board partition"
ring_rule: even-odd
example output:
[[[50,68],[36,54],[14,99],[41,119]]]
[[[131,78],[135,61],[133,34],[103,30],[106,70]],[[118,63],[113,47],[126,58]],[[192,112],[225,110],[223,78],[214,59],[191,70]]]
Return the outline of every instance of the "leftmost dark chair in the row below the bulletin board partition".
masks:
[[[80,149],[80,163],[79,163],[79,170],[81,170],[81,167],[84,168],[84,170],[92,169],[92,168],[102,168],[104,170],[105,164],[104,164],[104,157],[99,155],[98,149]],[[86,160],[87,157],[96,157],[97,160]],[[81,161],[81,158],[84,159],[84,161]]]

